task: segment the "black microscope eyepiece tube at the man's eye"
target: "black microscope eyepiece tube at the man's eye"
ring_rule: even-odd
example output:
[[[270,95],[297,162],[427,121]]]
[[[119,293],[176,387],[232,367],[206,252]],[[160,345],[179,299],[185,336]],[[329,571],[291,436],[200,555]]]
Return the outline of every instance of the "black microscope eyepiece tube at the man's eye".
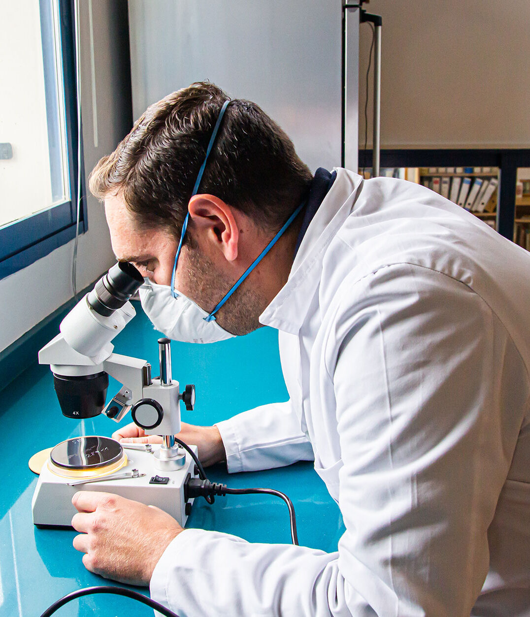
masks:
[[[94,289],[89,292],[88,304],[99,315],[109,317],[131,299],[143,282],[143,276],[132,263],[118,262],[97,281]]]

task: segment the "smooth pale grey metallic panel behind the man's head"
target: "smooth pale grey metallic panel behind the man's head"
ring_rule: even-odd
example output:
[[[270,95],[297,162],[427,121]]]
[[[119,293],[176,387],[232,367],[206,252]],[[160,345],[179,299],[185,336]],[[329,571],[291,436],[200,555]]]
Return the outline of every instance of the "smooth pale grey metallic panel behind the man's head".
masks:
[[[256,102],[314,171],[341,164],[341,0],[130,0],[133,112],[193,81]]]

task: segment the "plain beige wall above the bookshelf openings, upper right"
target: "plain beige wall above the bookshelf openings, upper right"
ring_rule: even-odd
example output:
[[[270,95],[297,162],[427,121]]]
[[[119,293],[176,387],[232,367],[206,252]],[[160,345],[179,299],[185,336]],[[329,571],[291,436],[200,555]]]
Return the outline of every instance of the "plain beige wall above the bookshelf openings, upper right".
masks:
[[[528,0],[371,0],[365,8],[383,16],[381,147],[530,147]],[[363,24],[360,147],[370,39]],[[371,87],[370,76],[370,96]]]

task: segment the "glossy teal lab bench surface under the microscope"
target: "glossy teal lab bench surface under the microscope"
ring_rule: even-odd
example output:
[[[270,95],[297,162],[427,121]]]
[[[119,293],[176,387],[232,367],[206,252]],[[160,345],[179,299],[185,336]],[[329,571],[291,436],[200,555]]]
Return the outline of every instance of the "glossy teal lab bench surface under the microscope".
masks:
[[[160,336],[138,302],[136,317],[114,339],[115,352],[143,358],[158,375]],[[56,333],[52,333],[54,336]],[[247,336],[209,345],[172,342],[173,379],[196,385],[193,412],[181,405],[183,421],[210,425],[247,408],[288,398],[278,354],[278,333],[261,328]],[[110,378],[107,400],[119,389]],[[104,416],[70,420],[60,412],[49,366],[35,364],[1,393],[0,453],[0,616],[38,617],[49,605],[81,587],[118,585],[85,569],[72,547],[73,529],[37,529],[31,520],[31,497],[37,476],[28,468],[31,455],[80,434],[110,436],[118,424]],[[131,421],[126,416],[119,426]],[[269,487],[285,492],[294,503],[300,544],[337,550],[344,532],[341,513],[329,497],[313,463],[252,473],[228,474],[217,465],[206,470],[210,480],[230,487]],[[213,505],[197,499],[188,528],[215,529],[249,542],[289,543],[285,503],[270,495],[227,495]],[[131,538],[131,542],[135,539]],[[148,595],[147,588],[131,587]],[[93,595],[73,600],[55,615],[128,617],[153,615],[151,608],[130,598]]]

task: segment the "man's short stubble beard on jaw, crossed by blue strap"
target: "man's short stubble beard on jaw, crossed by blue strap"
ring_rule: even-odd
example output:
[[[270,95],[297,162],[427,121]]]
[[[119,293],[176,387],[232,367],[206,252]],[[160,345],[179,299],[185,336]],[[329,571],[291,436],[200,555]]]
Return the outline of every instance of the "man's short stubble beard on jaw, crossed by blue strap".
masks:
[[[236,282],[224,274],[217,273],[213,262],[200,255],[197,250],[188,253],[186,274],[188,284],[194,290],[194,301],[208,313],[217,306]],[[243,336],[262,328],[259,316],[268,305],[267,299],[249,288],[248,283],[248,280],[244,281],[226,300],[226,304],[215,313],[218,325],[235,336]]]

